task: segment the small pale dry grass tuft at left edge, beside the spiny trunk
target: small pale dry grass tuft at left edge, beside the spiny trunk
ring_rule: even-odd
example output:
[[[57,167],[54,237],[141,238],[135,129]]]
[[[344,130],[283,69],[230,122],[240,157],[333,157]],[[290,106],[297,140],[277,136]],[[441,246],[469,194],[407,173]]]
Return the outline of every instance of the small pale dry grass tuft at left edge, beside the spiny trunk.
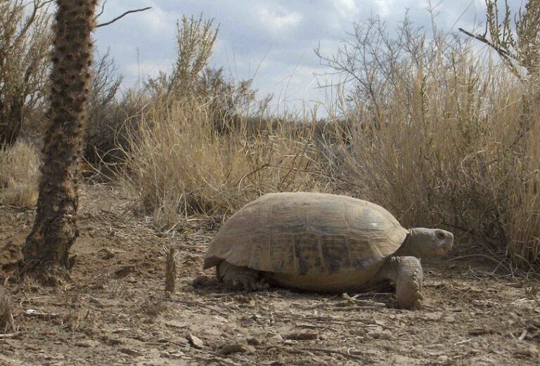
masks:
[[[19,142],[0,150],[0,203],[34,206],[38,178],[39,155],[34,145]]]

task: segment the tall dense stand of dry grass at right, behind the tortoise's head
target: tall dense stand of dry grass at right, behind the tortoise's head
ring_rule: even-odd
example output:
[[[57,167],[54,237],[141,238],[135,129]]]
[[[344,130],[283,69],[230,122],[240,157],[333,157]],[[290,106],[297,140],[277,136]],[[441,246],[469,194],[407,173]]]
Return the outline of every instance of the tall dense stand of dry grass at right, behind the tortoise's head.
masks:
[[[399,52],[364,64],[352,143],[342,145],[349,186],[406,226],[446,226],[539,264],[539,89],[470,45],[418,46],[408,32]]]

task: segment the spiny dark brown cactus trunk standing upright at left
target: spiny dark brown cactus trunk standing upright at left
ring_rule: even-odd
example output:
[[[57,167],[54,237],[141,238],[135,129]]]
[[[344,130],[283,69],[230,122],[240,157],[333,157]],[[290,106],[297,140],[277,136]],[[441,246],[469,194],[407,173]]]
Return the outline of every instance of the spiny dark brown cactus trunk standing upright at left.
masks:
[[[24,270],[69,268],[77,230],[77,161],[91,79],[97,0],[57,0],[51,90],[37,214],[23,247]]]

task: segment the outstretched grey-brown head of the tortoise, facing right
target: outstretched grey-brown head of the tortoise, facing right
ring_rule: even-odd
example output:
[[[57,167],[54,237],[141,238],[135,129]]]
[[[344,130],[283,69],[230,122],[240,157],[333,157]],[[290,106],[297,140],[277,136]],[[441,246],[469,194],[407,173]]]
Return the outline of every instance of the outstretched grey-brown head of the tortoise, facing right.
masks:
[[[454,243],[454,234],[442,229],[413,228],[400,248],[401,255],[430,259],[446,255]]]

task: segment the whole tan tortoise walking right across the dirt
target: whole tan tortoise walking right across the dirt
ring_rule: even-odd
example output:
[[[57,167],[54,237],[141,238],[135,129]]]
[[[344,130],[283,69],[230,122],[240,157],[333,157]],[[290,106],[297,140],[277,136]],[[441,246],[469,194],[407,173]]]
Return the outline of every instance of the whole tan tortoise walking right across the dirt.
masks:
[[[420,259],[444,256],[454,235],[405,229],[389,211],[345,195],[269,193],[233,214],[203,269],[236,289],[269,283],[314,292],[396,289],[401,308],[422,306]]]

